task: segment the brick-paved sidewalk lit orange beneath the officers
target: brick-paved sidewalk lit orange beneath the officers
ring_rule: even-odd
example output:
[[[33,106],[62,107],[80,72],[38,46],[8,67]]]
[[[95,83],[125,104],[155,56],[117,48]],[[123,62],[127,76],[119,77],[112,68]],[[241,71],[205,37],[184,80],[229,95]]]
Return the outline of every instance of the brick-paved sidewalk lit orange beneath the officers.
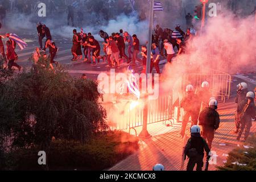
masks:
[[[241,142],[236,140],[237,135],[233,134],[234,130],[234,111],[236,105],[234,99],[220,103],[218,113],[220,114],[220,128],[216,131],[212,143],[212,151],[217,153],[217,166],[222,166],[226,160],[226,155]],[[186,133],[189,134],[189,125]],[[135,154],[122,160],[114,167],[112,171],[151,171],[152,167],[157,164],[163,164],[167,171],[180,170],[181,153],[183,148],[183,139],[179,136],[181,123],[174,123],[173,127],[166,127],[162,122],[148,126],[148,132],[152,135],[150,139],[140,140],[140,149]],[[137,129],[137,133],[141,129]],[[251,133],[256,131],[256,122],[253,122]],[[187,167],[187,161],[185,162]],[[209,165],[209,170],[216,170],[215,165]]]

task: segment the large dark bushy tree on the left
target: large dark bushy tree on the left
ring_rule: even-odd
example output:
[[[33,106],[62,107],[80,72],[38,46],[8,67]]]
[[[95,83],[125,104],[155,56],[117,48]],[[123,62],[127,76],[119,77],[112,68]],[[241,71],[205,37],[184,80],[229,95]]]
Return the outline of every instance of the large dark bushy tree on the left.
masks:
[[[0,134],[11,138],[13,147],[45,149],[52,137],[85,142],[108,129],[97,82],[73,78],[61,68],[34,65],[5,81],[0,92]]]

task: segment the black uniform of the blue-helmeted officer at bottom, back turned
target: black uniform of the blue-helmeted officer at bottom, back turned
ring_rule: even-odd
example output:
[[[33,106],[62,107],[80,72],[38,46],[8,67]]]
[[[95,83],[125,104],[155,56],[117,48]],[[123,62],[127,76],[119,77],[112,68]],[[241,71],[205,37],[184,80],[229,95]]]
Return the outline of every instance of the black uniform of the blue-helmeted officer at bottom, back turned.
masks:
[[[204,151],[209,155],[210,148],[207,142],[200,134],[191,134],[191,138],[188,139],[188,143],[185,146],[185,155],[188,156],[187,171],[193,171],[196,165],[196,171],[202,171],[204,166]]]

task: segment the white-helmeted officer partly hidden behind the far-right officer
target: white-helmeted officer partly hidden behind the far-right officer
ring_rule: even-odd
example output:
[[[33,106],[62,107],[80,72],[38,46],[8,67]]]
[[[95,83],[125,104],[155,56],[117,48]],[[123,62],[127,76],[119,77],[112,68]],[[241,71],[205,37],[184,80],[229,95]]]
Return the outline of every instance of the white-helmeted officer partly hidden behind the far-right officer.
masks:
[[[245,82],[241,82],[237,85],[237,96],[235,99],[235,103],[237,104],[237,107],[241,104],[243,100],[246,98],[246,94],[248,92],[247,84]],[[235,124],[236,124],[236,130],[234,130],[234,133],[238,133],[238,130],[240,129],[240,119],[238,111],[235,113]]]

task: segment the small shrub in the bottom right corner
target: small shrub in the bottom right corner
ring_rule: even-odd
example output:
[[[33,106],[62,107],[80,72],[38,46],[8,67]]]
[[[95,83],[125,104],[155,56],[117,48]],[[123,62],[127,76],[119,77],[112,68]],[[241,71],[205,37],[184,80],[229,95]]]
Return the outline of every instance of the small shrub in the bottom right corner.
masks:
[[[217,169],[220,171],[256,171],[256,135],[249,137],[243,145],[254,148],[244,148],[243,146],[235,148],[229,152],[225,165],[219,166]],[[234,162],[246,164],[246,166],[232,164]]]

